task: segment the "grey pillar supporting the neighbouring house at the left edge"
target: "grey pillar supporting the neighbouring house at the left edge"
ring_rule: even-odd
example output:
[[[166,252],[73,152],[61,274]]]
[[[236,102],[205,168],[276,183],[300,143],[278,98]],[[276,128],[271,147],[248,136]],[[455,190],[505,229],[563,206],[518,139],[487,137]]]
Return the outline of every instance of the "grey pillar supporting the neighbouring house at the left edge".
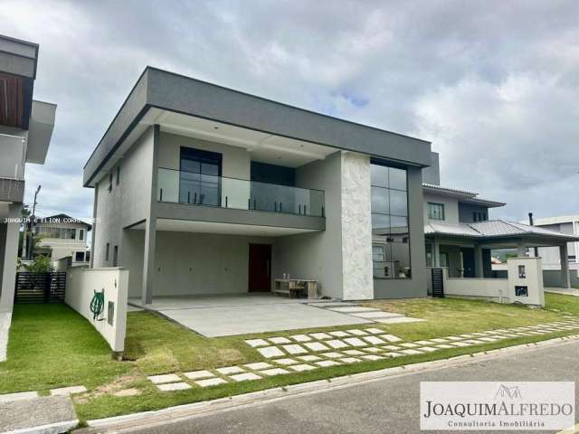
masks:
[[[22,205],[11,204],[8,208],[8,218],[18,219]],[[4,257],[2,267],[2,292],[0,293],[0,313],[12,312],[14,305],[14,286],[16,282],[16,257],[18,256],[18,235],[20,222],[14,220],[6,223]]]

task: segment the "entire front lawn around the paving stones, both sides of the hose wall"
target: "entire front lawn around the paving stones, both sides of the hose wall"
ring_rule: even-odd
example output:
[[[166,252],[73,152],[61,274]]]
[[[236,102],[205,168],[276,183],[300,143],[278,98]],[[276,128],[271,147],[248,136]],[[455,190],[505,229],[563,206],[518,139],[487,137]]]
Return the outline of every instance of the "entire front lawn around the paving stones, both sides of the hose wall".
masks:
[[[428,320],[423,323],[373,325],[405,340],[540,324],[556,321],[568,314],[579,316],[579,297],[547,294],[546,301],[546,309],[452,298],[375,301],[368,305]],[[331,329],[340,328],[352,327]],[[319,328],[315,331],[324,330],[327,329]],[[155,373],[185,372],[261,361],[261,354],[244,344],[244,339],[311,331],[292,330],[265,335],[205,338],[162,317],[146,312],[133,312],[128,314],[125,354],[128,360],[116,362],[110,357],[108,345],[90,323],[70,308],[63,305],[17,305],[11,328],[8,362],[0,363],[0,393],[27,390],[47,392],[53,387],[83,384],[89,389],[89,393],[75,395],[74,403],[81,420],[89,420],[576,333],[559,332],[553,335],[519,337],[431,354],[280,375],[253,382],[228,383],[207,389],[195,387],[183,392],[158,392],[146,378],[147,375]],[[138,396],[119,397],[114,394],[129,388],[136,389]]]

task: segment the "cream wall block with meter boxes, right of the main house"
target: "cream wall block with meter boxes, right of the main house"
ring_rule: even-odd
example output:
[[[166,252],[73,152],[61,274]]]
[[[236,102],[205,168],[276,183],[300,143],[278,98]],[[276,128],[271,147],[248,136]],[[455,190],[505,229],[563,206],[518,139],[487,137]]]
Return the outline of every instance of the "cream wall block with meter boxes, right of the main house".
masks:
[[[545,306],[541,258],[508,258],[508,298],[511,303]]]

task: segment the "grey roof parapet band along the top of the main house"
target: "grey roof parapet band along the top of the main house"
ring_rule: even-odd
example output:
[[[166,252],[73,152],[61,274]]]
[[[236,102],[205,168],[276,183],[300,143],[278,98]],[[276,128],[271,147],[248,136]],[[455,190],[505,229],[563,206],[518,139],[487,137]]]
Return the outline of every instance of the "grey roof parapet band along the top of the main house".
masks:
[[[432,164],[430,142],[147,67],[85,165],[85,186],[93,186],[100,168],[151,107],[411,165]]]

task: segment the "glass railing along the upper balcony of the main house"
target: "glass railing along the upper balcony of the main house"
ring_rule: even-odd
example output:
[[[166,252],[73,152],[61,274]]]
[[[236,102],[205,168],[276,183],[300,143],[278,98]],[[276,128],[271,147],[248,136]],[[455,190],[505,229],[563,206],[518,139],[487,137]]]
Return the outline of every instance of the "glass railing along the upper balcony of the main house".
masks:
[[[159,168],[157,201],[325,217],[324,192]]]

